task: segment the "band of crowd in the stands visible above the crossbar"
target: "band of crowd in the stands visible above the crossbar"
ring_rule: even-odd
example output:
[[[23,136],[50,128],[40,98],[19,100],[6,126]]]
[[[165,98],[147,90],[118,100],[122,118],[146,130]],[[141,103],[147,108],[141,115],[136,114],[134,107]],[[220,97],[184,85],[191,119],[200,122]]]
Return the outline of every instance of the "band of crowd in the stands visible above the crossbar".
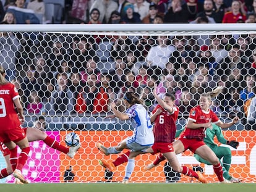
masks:
[[[53,7],[53,15],[47,11],[49,4],[58,6]],[[255,11],[254,0],[0,1],[0,20],[4,24],[9,23],[5,14],[10,12],[18,24],[255,23]]]

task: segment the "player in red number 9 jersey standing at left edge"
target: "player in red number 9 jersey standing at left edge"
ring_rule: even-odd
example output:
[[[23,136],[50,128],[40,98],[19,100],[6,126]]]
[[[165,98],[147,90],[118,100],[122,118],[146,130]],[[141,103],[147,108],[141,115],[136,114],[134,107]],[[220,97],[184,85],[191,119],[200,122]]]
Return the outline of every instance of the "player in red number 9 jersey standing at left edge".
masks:
[[[19,178],[22,183],[28,183],[21,173],[30,151],[27,137],[20,127],[25,120],[23,107],[20,104],[18,91],[12,83],[4,78],[5,75],[4,67],[0,66],[0,141],[10,150],[10,164],[14,171],[14,177]],[[21,149],[19,159],[16,145]]]

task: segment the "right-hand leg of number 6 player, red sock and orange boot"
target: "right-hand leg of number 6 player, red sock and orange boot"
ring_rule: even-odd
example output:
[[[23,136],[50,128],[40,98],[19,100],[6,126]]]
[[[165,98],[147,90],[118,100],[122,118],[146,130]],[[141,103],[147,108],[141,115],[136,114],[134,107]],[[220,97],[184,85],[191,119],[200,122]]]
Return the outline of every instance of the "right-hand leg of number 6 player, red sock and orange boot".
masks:
[[[198,173],[194,172],[194,170],[190,169],[189,167],[181,166],[174,151],[164,152],[163,156],[169,161],[169,164],[171,167],[173,167],[175,172],[182,173],[189,177],[195,177],[202,183],[208,183],[206,178],[204,178],[201,174],[198,175]]]

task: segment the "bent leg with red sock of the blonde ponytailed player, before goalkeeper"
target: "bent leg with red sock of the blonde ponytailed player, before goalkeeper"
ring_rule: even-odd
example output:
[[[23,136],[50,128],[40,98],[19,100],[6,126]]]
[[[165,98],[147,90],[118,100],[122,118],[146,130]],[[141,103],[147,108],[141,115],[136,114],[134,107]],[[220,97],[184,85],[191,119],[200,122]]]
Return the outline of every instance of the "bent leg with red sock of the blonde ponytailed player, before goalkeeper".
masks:
[[[220,182],[224,182],[223,169],[216,154],[206,144],[198,147],[195,150],[195,153],[206,161],[210,162],[210,164],[213,165],[213,170],[216,173],[218,180]]]

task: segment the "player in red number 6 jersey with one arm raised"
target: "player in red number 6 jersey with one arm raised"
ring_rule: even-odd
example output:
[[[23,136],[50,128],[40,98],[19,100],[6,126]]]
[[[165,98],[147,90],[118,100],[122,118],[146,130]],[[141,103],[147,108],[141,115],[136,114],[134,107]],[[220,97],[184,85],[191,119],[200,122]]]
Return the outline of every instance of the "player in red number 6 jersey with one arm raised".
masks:
[[[158,101],[158,105],[153,110],[150,120],[154,122],[154,136],[155,143],[151,148],[148,148],[145,152],[156,154],[161,152],[163,156],[169,161],[169,164],[176,172],[183,173],[185,175],[195,177],[202,183],[207,183],[207,180],[201,173],[196,173],[186,166],[181,166],[177,160],[176,154],[173,148],[173,142],[176,134],[176,121],[179,114],[179,109],[174,106],[175,96],[170,93],[166,93],[163,100],[156,94],[156,85],[153,91],[153,95]],[[127,155],[127,154],[126,154]],[[129,156],[129,155],[128,155]],[[124,156],[125,157],[125,156]],[[100,160],[100,164],[112,171],[113,165],[103,159]]]

